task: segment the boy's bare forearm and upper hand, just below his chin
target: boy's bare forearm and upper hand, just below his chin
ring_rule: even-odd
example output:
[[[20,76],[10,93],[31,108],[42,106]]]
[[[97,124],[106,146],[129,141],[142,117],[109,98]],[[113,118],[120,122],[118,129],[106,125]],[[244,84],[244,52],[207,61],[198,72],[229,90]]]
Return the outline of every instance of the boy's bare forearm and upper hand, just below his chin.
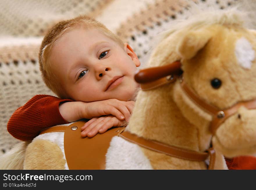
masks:
[[[59,111],[68,122],[91,119],[102,115],[113,115],[119,120],[128,121],[134,107],[134,101],[107,99],[96,102],[65,102],[60,104]]]

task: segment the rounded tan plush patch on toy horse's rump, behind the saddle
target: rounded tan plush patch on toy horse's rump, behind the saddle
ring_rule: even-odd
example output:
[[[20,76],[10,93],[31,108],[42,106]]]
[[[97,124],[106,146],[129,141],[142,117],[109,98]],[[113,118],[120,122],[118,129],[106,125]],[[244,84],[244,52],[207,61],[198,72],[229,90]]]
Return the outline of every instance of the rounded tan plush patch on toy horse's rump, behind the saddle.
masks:
[[[65,169],[66,160],[59,146],[37,139],[27,147],[24,169]]]

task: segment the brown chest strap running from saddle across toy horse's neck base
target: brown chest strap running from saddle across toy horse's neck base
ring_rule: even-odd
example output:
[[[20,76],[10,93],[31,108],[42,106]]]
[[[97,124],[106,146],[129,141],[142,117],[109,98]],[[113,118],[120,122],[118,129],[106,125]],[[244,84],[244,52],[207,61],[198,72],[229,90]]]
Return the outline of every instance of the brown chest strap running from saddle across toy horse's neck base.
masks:
[[[176,158],[182,158],[192,161],[204,161],[208,157],[208,153],[206,152],[186,150],[176,146],[166,145],[161,142],[147,140],[143,137],[138,137],[137,135],[132,134],[129,131],[123,131],[118,136],[124,138],[125,140],[128,140],[129,142],[138,144],[139,146],[142,146],[146,149],[150,149],[152,151],[170,155]]]

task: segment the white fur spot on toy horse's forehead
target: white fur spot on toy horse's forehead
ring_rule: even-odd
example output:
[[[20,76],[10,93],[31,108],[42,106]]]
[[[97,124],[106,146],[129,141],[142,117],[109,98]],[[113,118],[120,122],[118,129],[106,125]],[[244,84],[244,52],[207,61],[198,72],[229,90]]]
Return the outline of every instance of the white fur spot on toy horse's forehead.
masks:
[[[237,40],[235,55],[240,66],[247,69],[251,68],[252,61],[255,58],[255,51],[253,50],[250,42],[245,37],[241,37]]]

